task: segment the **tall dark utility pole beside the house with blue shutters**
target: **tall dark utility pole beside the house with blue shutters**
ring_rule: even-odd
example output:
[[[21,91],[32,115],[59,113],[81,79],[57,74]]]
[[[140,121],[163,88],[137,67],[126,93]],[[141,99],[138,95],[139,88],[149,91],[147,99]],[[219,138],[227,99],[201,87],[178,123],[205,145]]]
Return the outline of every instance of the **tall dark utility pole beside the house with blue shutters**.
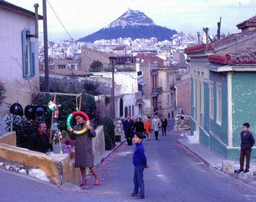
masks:
[[[48,65],[48,37],[47,37],[47,14],[46,0],[43,0],[43,25],[44,25],[44,80],[45,92],[49,92],[49,65]]]

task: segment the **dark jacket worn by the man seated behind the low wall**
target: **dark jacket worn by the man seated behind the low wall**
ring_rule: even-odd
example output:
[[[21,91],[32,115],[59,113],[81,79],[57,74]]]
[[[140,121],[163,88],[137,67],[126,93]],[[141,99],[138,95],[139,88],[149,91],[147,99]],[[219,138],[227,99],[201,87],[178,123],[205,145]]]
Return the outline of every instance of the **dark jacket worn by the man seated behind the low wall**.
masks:
[[[48,149],[52,149],[52,145],[49,143],[47,133],[44,134],[44,143],[38,131],[33,133],[29,141],[29,150],[46,153]]]

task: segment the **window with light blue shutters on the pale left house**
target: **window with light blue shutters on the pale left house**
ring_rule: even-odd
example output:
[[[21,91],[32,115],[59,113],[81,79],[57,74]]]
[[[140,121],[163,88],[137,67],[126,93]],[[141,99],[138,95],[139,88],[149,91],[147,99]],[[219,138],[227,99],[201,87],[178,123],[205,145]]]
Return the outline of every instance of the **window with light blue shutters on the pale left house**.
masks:
[[[22,31],[22,48],[23,48],[23,77],[29,78],[35,76],[35,43],[30,42],[27,35],[30,31],[23,29]]]

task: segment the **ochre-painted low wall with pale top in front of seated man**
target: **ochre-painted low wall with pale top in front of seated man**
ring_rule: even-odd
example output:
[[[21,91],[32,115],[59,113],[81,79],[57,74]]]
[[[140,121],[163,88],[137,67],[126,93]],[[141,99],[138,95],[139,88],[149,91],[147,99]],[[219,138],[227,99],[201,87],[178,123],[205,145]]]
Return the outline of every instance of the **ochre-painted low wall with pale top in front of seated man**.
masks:
[[[74,160],[70,161],[69,154],[48,156],[44,153],[0,143],[0,157],[28,167],[38,167],[54,184],[79,183],[79,169],[74,168]]]

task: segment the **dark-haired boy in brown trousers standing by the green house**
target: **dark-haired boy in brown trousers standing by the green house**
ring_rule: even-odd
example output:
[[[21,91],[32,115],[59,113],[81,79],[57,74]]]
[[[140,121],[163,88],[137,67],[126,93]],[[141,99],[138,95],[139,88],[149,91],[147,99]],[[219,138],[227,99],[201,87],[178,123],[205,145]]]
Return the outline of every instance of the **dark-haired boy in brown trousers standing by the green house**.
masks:
[[[250,154],[252,152],[251,147],[253,147],[253,144],[255,143],[253,134],[249,131],[249,128],[250,128],[250,124],[244,123],[243,131],[240,133],[241,135],[240,169],[237,171],[237,173],[241,173],[242,171],[244,171],[244,173],[249,172]],[[246,156],[245,170],[244,170],[244,156]]]

